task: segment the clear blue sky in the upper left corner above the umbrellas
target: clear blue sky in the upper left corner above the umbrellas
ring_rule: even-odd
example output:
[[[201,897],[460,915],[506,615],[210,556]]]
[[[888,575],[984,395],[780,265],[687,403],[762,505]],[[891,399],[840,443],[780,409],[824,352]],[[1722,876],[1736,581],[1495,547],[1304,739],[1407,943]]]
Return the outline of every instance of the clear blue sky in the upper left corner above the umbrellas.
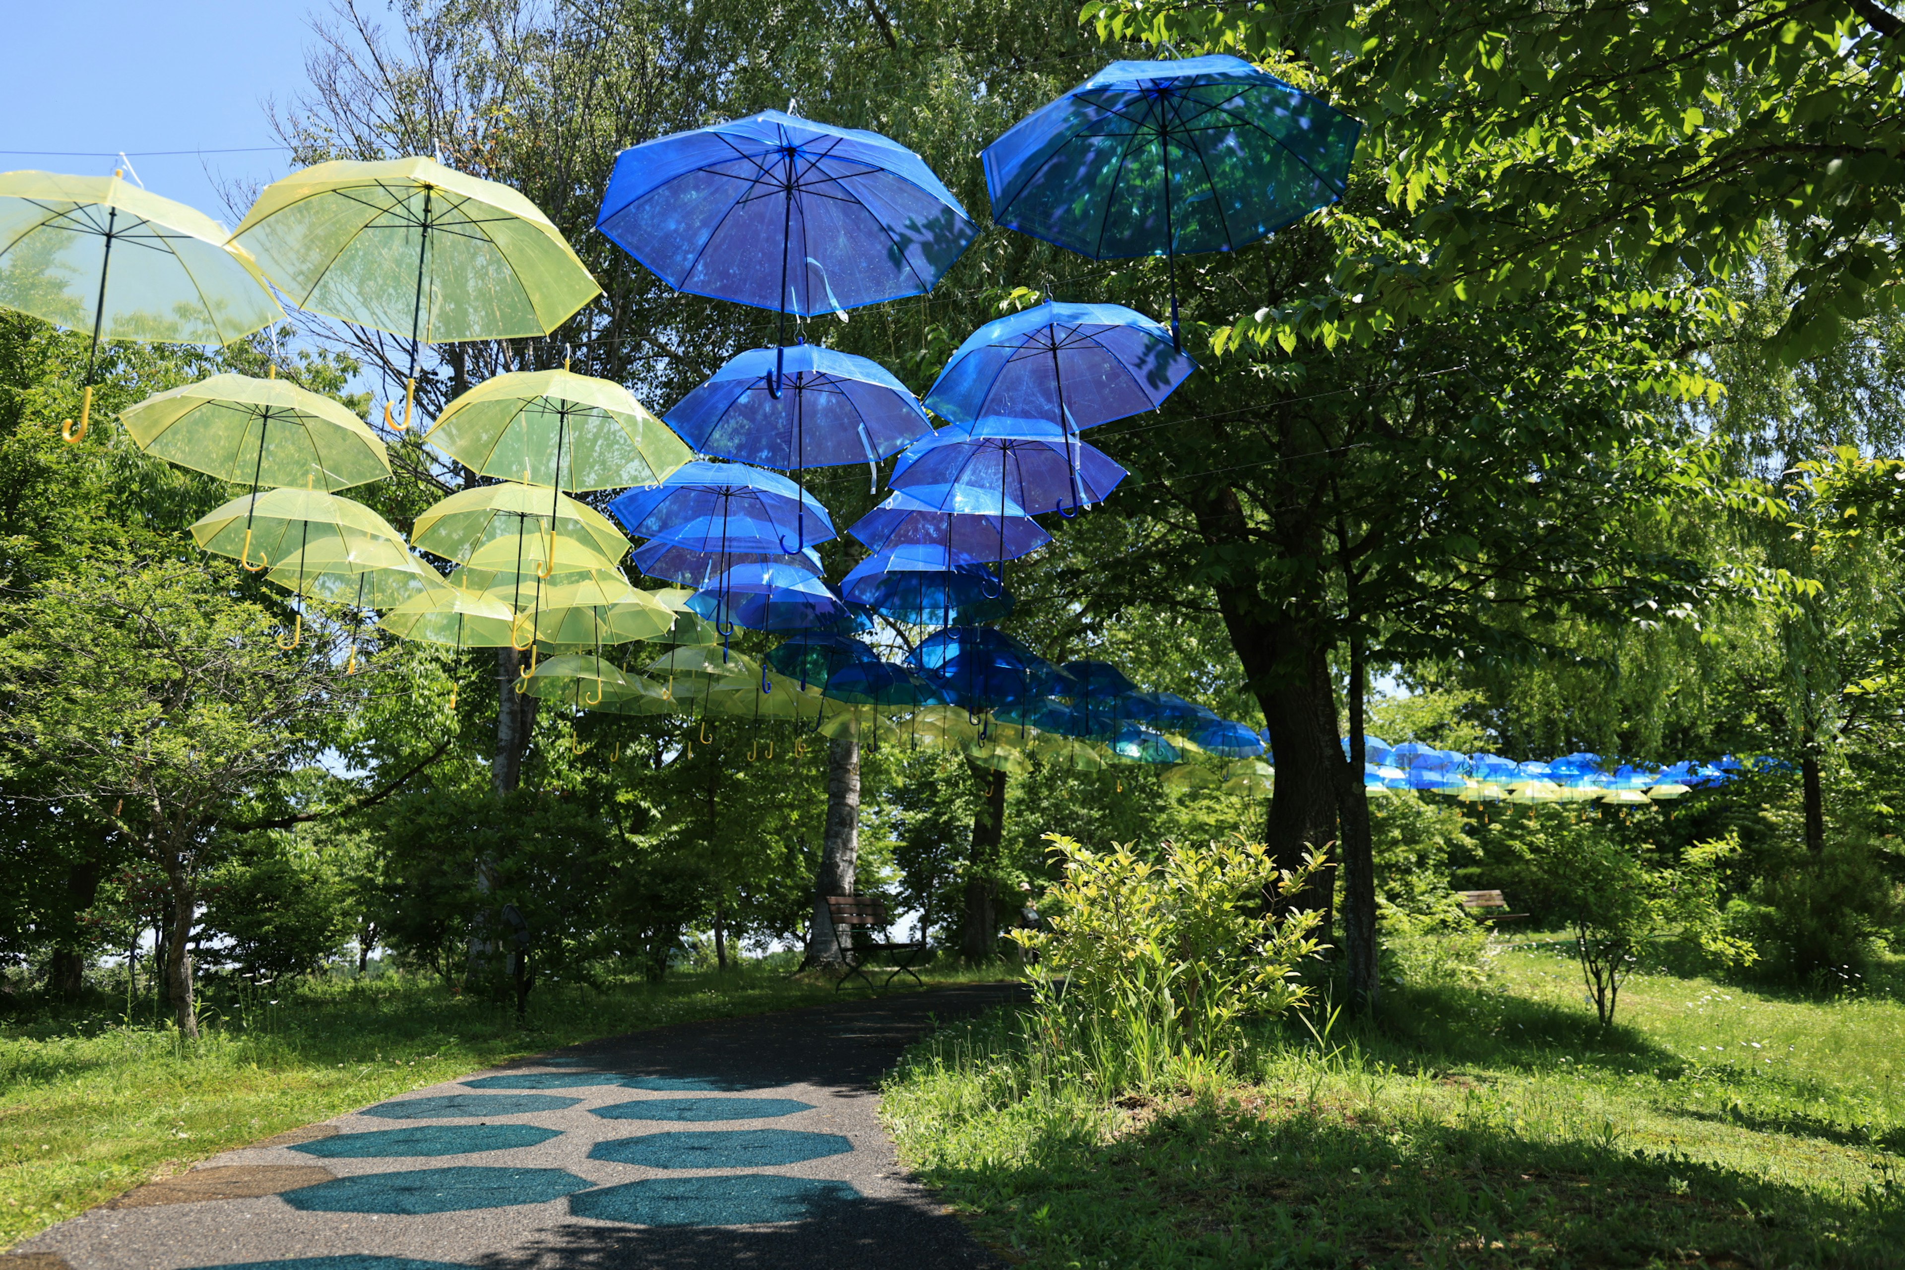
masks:
[[[282,150],[251,147],[276,141],[265,99],[288,99],[305,84],[305,46],[312,13],[328,13],[324,0],[11,0],[6,8],[0,171],[105,175],[118,166],[112,152],[128,150],[147,189],[227,223],[232,213],[217,181],[284,175]]]

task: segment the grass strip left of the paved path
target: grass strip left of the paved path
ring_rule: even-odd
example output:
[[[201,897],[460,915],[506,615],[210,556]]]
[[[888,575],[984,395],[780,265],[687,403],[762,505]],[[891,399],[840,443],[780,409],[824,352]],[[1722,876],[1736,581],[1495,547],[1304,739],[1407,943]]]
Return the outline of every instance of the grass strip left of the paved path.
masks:
[[[831,982],[770,969],[676,973],[545,988],[518,1024],[511,1007],[383,975],[227,1003],[196,1045],[109,1007],[0,1015],[0,1249],[221,1150],[505,1059],[832,1000]]]

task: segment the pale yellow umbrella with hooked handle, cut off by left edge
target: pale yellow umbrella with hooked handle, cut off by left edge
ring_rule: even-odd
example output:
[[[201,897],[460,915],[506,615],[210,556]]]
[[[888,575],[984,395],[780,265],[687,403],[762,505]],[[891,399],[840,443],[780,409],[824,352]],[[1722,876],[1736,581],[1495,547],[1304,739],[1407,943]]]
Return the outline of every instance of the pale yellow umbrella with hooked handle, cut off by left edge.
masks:
[[[0,307],[91,327],[80,421],[86,436],[101,339],[229,345],[284,316],[251,257],[211,217],[122,173],[0,173]]]

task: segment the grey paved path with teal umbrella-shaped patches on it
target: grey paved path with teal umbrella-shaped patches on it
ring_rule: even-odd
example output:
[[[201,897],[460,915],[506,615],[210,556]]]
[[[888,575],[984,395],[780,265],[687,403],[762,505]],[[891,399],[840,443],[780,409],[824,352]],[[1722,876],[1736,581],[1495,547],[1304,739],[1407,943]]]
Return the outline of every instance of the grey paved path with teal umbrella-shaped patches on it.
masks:
[[[874,1083],[973,984],[636,1032],[215,1156],[0,1270],[973,1270]]]

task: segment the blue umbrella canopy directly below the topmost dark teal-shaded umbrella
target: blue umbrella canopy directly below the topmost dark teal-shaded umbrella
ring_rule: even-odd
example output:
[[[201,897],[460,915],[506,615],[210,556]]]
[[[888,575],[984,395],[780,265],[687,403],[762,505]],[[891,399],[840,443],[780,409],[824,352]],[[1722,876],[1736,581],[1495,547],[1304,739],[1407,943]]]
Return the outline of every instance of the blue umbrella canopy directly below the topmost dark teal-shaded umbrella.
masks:
[[[968,335],[926,406],[964,427],[1012,415],[1093,428],[1156,409],[1194,369],[1172,333],[1135,308],[1044,303]]]

